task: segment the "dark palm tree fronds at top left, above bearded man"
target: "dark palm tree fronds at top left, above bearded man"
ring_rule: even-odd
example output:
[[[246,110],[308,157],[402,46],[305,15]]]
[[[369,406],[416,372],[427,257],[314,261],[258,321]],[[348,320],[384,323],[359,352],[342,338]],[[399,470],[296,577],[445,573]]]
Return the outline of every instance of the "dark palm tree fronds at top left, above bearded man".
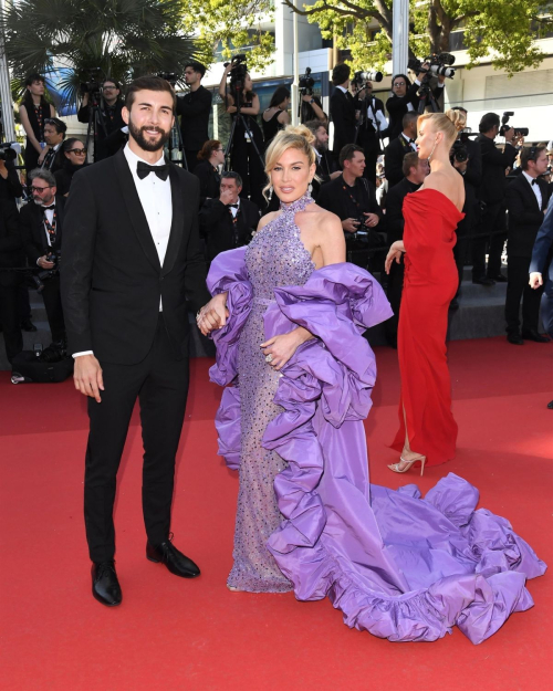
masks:
[[[157,72],[180,76],[194,55],[194,42],[178,31],[181,12],[181,0],[14,2],[1,18],[14,83],[61,72],[58,87],[76,103],[94,70],[123,83]]]

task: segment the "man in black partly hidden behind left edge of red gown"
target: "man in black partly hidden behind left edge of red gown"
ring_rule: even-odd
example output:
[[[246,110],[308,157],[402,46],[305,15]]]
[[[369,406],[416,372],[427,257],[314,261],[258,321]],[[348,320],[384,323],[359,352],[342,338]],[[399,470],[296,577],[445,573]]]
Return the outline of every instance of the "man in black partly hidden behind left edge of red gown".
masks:
[[[404,239],[404,199],[407,195],[416,192],[430,172],[430,164],[411,151],[404,157],[404,178],[395,185],[386,195],[386,232],[387,244],[392,245],[396,240]],[[394,315],[384,323],[386,341],[393,348],[397,348],[397,328],[399,325],[399,306],[404,289],[404,258],[401,262],[392,262],[388,274],[386,293]]]

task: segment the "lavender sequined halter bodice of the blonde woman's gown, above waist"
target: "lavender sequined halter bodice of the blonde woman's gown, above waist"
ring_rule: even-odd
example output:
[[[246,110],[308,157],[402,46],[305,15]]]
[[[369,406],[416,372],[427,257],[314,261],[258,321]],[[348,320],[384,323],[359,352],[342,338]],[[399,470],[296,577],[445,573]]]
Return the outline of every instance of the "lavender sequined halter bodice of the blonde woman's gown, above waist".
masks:
[[[254,299],[274,300],[274,287],[303,285],[314,271],[295,224],[295,214],[312,202],[304,195],[288,206],[281,203],[280,216],[253,235],[246,251],[246,266]]]

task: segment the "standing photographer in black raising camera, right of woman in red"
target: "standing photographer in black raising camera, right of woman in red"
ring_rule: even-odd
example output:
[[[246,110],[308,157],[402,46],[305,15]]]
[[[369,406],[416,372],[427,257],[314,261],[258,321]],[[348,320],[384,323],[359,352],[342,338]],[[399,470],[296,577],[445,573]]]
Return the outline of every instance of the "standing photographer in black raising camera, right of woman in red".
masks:
[[[505,147],[495,147],[500,118],[495,113],[487,113],[479,125],[477,143],[482,155],[482,182],[479,199],[483,206],[477,237],[472,240],[472,283],[493,285],[507,281],[501,273],[501,253],[507,240],[505,229],[505,170],[512,168],[517,158],[515,133],[512,127],[504,132]],[[488,271],[486,254],[488,250]]]

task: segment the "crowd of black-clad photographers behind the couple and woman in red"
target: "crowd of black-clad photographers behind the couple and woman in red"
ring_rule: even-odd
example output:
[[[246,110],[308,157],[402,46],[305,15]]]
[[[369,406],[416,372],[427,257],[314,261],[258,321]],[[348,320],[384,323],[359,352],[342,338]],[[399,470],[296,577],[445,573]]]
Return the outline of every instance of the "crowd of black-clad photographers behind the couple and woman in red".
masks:
[[[373,95],[373,83],[382,73],[355,73],[338,64],[332,73],[330,113],[313,94],[310,71],[300,83],[301,121],[314,135],[317,167],[313,196],[323,208],[336,213],[344,229],[347,261],[369,269],[386,283],[388,297],[398,314],[403,265],[394,264],[388,278],[383,271],[386,249],[403,235],[401,207],[406,195],[416,191],[429,174],[420,160],[415,140],[417,118],[425,108],[437,109],[445,80],[452,76],[446,57],[409,63],[416,74],[392,81],[392,94],[384,104]],[[226,147],[209,139],[211,92],[201,80],[205,67],[186,66],[188,91],[177,98],[180,126],[176,148],[181,164],[200,180],[199,224],[206,260],[219,252],[247,244],[263,213],[278,208],[267,203],[263,156],[275,134],[290,122],[290,92],[280,86],[261,113],[243,56],[226,65],[219,94],[231,119]],[[165,78],[175,82],[175,75]],[[86,144],[66,137],[65,123],[55,116],[44,96],[44,78],[33,74],[20,104],[27,134],[23,175],[15,169],[15,155],[0,149],[0,326],[8,359],[23,347],[21,331],[35,331],[31,321],[29,291],[44,301],[52,344],[45,359],[63,357],[65,329],[60,299],[59,269],[62,256],[63,210],[71,193],[73,175],[88,160],[116,154],[126,143],[122,117],[122,87],[97,75],[82,85],[79,121],[87,124]],[[463,108],[459,108],[465,111]],[[465,113],[467,113],[465,111]],[[532,247],[551,197],[551,159],[545,145],[524,146],[528,130],[486,114],[479,134],[461,132],[451,150],[451,165],[462,176],[466,189],[465,218],[455,248],[461,282],[466,264],[472,266],[472,282],[482,286],[508,282],[505,321],[508,339],[546,342],[539,333],[539,310],[543,286],[528,284]],[[328,148],[330,123],[333,147]],[[504,146],[495,143],[504,138]],[[171,137],[169,149],[175,146]],[[87,156],[93,147],[93,156]],[[170,156],[171,151],[168,151]],[[27,203],[18,211],[17,200]],[[508,240],[508,274],[502,273]],[[24,271],[27,268],[27,271]],[[522,324],[519,313],[522,301]],[[451,308],[458,306],[457,296]],[[386,324],[389,345],[397,343],[397,316]]]

